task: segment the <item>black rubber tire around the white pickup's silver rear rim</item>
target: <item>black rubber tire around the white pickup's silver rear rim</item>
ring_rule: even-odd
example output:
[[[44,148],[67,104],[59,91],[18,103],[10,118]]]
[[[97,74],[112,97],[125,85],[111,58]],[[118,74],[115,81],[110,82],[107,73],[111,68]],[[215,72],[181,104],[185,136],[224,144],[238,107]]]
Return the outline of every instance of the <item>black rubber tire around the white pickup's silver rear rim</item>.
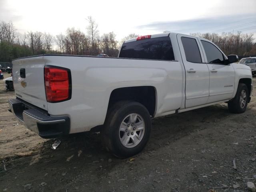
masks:
[[[120,141],[120,125],[129,114],[139,114],[144,120],[144,135],[140,142],[127,148]],[[146,146],[150,137],[151,117],[145,106],[134,101],[121,101],[114,104],[107,113],[104,128],[102,130],[103,143],[106,150],[118,158],[128,158],[138,154]],[[126,133],[124,133],[126,134]]]

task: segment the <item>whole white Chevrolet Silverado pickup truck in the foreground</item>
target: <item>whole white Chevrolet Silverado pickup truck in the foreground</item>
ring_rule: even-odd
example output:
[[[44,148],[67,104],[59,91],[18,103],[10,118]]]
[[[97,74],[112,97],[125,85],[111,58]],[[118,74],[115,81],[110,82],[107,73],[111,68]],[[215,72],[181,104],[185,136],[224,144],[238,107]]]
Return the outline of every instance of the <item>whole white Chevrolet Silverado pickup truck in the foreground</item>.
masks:
[[[209,40],[177,33],[127,40],[118,58],[44,54],[13,60],[13,114],[42,138],[100,130],[126,158],[150,137],[151,118],[221,102],[242,113],[250,67]]]

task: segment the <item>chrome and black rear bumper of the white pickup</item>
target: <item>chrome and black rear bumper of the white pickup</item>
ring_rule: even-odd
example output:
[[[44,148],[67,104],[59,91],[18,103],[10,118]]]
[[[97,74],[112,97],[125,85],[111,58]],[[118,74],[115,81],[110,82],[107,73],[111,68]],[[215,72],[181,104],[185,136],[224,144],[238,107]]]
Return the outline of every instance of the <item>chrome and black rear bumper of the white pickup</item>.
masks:
[[[14,116],[42,138],[56,138],[69,134],[70,118],[67,116],[52,117],[20,99],[10,99],[9,105]]]

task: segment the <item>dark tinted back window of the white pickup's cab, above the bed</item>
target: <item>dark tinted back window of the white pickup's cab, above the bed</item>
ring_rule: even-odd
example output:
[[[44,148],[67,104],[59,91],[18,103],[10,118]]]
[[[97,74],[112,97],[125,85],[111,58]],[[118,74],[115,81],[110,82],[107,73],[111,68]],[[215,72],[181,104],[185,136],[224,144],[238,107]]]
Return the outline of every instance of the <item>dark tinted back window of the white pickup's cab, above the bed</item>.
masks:
[[[123,44],[120,58],[175,60],[170,37],[143,39]]]

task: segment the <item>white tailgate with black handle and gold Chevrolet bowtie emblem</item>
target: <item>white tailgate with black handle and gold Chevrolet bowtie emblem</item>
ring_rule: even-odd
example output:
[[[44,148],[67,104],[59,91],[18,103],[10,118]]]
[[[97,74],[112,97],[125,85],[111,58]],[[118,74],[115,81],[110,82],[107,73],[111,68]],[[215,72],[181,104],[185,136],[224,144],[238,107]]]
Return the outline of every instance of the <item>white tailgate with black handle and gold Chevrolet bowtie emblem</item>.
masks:
[[[43,56],[14,60],[12,64],[13,84],[17,98],[47,110]]]

